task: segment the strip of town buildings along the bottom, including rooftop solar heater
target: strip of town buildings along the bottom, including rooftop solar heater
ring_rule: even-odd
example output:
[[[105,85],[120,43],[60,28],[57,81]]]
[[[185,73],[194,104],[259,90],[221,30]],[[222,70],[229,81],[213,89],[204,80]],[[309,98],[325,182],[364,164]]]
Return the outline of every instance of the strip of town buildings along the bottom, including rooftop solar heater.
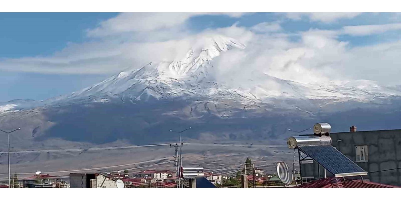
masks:
[[[310,130],[309,128],[306,130]],[[317,123],[314,134],[288,138],[288,148],[294,149],[294,162],[277,162],[275,173],[265,166],[255,165],[247,158],[241,164],[219,169],[202,166],[182,166],[182,144],[175,149],[175,171],[150,167],[134,172],[71,172],[69,176],[54,176],[38,171],[20,178],[10,174],[2,179],[2,188],[269,188],[269,187],[382,187],[401,186],[401,130],[357,131],[330,133],[328,123]]]

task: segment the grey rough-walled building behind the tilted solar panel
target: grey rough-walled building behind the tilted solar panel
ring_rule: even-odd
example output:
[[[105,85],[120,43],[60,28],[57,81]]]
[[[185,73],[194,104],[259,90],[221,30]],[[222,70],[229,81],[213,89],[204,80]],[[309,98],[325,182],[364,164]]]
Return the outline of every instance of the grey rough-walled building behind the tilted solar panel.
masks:
[[[364,179],[401,186],[400,129],[356,131],[351,126],[350,132],[331,133],[330,137],[334,148],[368,172]],[[319,179],[319,174],[324,178],[324,169],[312,160],[301,161],[301,173],[304,181]]]

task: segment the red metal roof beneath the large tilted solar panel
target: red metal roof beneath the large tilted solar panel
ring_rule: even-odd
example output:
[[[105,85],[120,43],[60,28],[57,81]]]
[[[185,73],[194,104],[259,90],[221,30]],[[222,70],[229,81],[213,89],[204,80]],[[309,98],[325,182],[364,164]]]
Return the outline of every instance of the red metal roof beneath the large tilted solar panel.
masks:
[[[399,186],[391,186],[381,183],[370,182],[367,180],[349,180],[344,178],[326,178],[316,180],[312,183],[302,184],[296,188],[400,188]]]

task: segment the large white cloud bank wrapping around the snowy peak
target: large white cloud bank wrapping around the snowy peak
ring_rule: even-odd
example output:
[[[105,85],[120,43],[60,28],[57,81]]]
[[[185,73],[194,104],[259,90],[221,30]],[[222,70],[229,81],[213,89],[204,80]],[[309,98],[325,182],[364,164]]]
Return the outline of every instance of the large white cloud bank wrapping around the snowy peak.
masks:
[[[188,15],[181,17],[188,19]],[[153,21],[149,16],[142,20],[137,17],[119,15],[114,20],[102,22],[99,28],[88,32],[97,36],[96,42],[69,44],[52,56],[2,59],[0,69],[56,74],[112,74],[127,67],[139,68],[151,61],[180,59],[203,37],[222,34],[247,46],[244,50],[225,52],[214,60],[216,78],[232,86],[273,84],[266,80],[266,74],[304,83],[349,79],[401,83],[397,77],[401,73],[397,66],[401,62],[401,42],[352,47],[338,39],[340,34],[375,34],[398,29],[399,25],[311,29],[299,32],[299,40],[292,40],[280,31],[278,22],[263,22],[251,28],[234,24],[191,33],[185,31],[186,20],[173,20],[178,18],[175,14],[156,16],[164,18],[162,23]],[[149,23],[142,24],[145,21]],[[133,22],[140,25],[134,26]]]

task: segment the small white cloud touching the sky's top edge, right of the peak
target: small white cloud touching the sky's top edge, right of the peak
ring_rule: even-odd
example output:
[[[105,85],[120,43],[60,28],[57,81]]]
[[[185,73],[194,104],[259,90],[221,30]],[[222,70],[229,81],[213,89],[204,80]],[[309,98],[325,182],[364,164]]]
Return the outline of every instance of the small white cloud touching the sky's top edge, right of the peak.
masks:
[[[304,17],[311,21],[324,23],[334,22],[339,19],[350,19],[361,14],[360,12],[289,12],[286,16],[293,20],[301,20]]]

